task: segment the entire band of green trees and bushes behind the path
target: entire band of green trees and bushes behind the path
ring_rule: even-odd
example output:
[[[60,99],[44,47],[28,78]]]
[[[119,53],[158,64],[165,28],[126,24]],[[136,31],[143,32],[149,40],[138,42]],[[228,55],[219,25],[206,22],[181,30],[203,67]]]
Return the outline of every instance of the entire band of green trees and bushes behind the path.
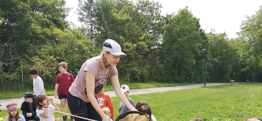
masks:
[[[31,67],[39,69],[48,88],[59,62],[67,62],[76,77],[106,39],[118,42],[128,55],[117,64],[120,82],[203,82],[203,48],[209,52],[207,82],[234,76],[262,82],[261,8],[243,21],[238,38],[228,40],[226,33],[205,33],[187,7],[163,16],[161,4],[149,0],[79,0],[77,14],[84,26],[71,28],[65,5],[64,0],[0,2],[0,61],[9,67],[2,67],[2,73],[13,76],[8,83],[17,79],[21,85],[21,63],[26,88],[32,87]]]

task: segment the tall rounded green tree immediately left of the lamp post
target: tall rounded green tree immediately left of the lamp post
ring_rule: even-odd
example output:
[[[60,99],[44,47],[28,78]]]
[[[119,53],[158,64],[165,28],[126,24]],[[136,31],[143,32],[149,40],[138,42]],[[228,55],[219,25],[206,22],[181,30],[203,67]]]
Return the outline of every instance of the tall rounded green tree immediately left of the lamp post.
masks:
[[[167,15],[163,40],[160,45],[161,63],[166,81],[182,82],[188,75],[191,81],[199,81],[203,71],[196,63],[203,62],[201,48],[205,38],[201,36],[199,20],[184,8],[177,15]],[[202,66],[204,67],[204,66]],[[198,75],[198,76],[196,76]]]

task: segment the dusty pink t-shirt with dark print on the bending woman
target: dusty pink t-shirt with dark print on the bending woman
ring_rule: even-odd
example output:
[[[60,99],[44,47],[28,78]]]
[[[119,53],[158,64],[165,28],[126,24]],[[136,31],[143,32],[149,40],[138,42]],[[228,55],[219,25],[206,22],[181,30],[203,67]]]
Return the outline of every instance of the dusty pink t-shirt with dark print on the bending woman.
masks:
[[[111,67],[110,71],[105,71],[101,66],[100,55],[88,59],[80,68],[73,85],[69,88],[71,95],[80,97],[86,103],[89,103],[87,98],[86,89],[86,71],[90,72],[95,77],[95,90],[94,96],[97,97],[98,93],[106,85],[110,76],[117,76],[118,72],[116,67]]]

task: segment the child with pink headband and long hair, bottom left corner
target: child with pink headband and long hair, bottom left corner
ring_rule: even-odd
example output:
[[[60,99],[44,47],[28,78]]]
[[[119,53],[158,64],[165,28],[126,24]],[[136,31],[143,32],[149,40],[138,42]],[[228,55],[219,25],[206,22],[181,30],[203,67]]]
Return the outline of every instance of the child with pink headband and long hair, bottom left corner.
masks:
[[[6,108],[9,116],[5,118],[5,121],[26,121],[24,116],[19,114],[16,103],[8,104]]]

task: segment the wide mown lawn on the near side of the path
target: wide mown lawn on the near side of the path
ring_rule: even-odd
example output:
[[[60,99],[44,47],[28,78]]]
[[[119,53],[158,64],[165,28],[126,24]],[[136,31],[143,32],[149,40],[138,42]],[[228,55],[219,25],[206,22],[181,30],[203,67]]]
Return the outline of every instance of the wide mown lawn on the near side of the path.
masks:
[[[147,101],[158,121],[188,121],[202,118],[205,121],[244,121],[248,117],[262,117],[262,83],[230,84],[132,95],[135,102]],[[119,115],[117,97],[112,98],[114,119]],[[60,106],[60,105],[59,105]],[[7,115],[0,111],[0,117]],[[62,117],[62,114],[55,114]]]

